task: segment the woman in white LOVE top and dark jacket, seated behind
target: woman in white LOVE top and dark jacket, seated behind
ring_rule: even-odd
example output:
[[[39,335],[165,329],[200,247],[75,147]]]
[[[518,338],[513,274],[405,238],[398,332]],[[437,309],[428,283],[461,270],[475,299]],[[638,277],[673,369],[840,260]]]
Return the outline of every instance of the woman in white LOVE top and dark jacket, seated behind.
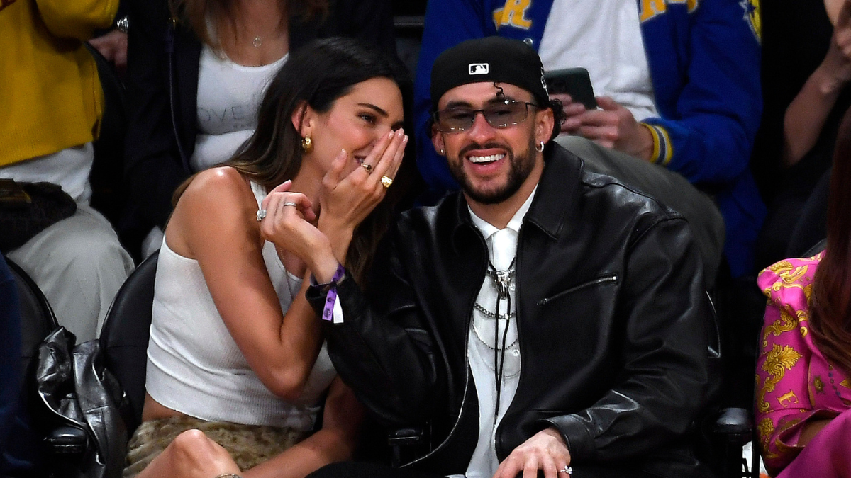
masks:
[[[389,0],[151,0],[129,7],[131,210],[121,232],[134,253],[153,226],[147,253],[159,247],[177,186],[248,139],[263,89],[288,54],[333,36],[395,51]]]

